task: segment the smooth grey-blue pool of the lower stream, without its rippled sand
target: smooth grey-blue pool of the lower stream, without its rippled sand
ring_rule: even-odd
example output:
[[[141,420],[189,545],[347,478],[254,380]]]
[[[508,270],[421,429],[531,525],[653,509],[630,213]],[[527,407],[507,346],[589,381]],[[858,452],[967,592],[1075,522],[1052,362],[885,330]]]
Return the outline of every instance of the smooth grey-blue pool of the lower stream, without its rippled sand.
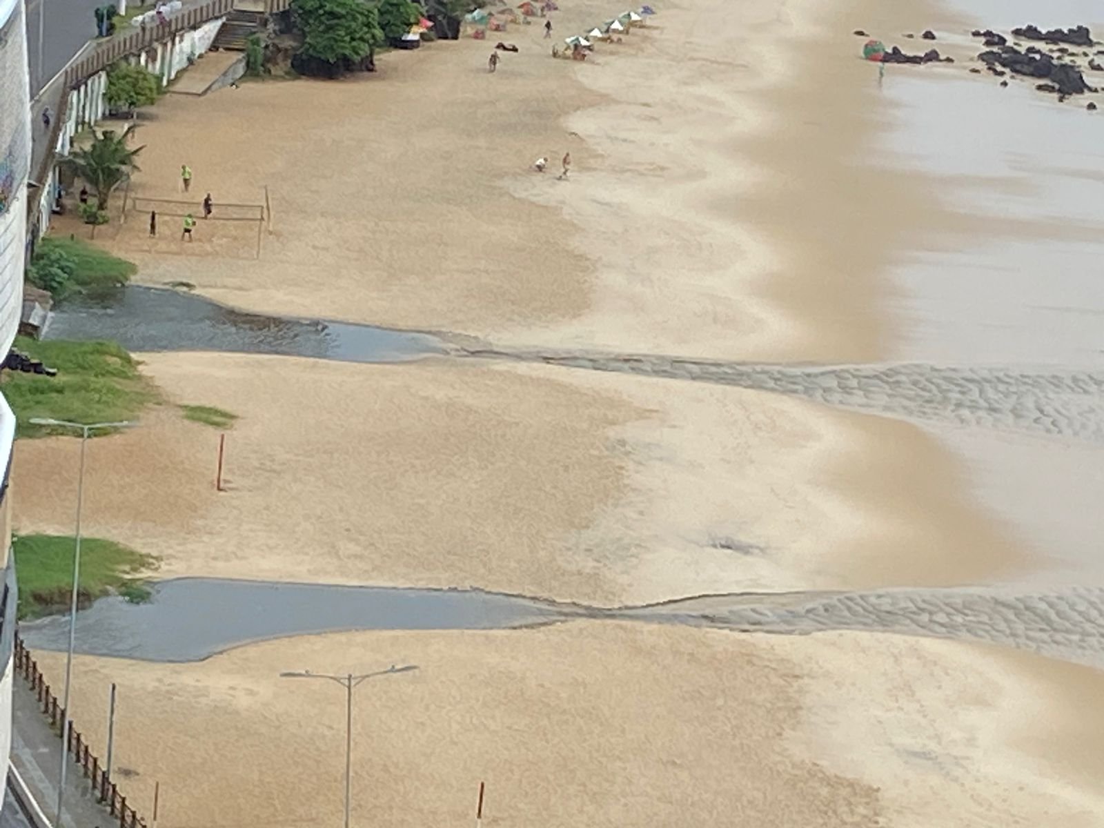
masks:
[[[572,607],[476,590],[406,590],[183,577],[151,599],[100,598],[77,614],[76,651],[199,661],[270,638],[360,629],[511,629],[571,617]],[[68,616],[20,624],[28,647],[64,650]]]

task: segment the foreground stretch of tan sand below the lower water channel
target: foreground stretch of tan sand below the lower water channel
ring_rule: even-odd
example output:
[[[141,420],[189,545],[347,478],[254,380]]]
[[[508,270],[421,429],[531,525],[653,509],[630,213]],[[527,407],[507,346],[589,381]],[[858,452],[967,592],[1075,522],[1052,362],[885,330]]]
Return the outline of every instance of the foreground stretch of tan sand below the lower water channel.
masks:
[[[116,766],[147,814],[160,781],[167,828],[333,825],[343,692],[277,673],[391,664],[421,669],[357,691],[354,824],[458,824],[480,781],[488,826],[1091,828],[1104,807],[1100,673],[884,635],[577,623],[78,657],[74,715],[103,744],[118,683]]]

